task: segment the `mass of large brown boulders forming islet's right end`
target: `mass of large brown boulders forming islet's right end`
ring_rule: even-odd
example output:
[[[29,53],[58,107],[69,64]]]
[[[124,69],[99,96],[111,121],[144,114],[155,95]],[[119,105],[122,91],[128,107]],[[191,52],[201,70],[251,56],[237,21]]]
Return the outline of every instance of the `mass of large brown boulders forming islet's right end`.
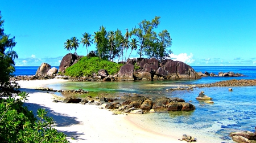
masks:
[[[127,66],[126,66],[127,65]],[[131,70],[134,67],[133,76],[131,76]],[[120,76],[129,75],[130,80],[153,80],[153,79],[199,79],[201,76],[193,70],[191,66],[183,62],[174,61],[171,59],[164,60],[159,64],[159,61],[155,58],[137,58],[137,59],[128,59],[127,64],[124,65],[124,69],[121,68],[120,71],[123,73]],[[124,72],[124,71],[127,72]],[[119,71],[119,72],[120,72]],[[129,72],[128,72],[129,71]],[[133,78],[131,78],[133,77]],[[118,80],[123,80],[122,77],[119,77]]]

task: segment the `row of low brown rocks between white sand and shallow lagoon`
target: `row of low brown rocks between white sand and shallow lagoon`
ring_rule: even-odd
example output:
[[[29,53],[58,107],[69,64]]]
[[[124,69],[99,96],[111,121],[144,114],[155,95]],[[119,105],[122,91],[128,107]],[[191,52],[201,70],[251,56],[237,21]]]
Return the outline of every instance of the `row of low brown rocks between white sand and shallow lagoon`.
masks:
[[[165,111],[192,111],[195,106],[187,103],[181,98],[167,97],[144,97],[134,94],[134,96],[122,97],[96,97],[90,96],[80,98],[65,98],[64,103],[81,103],[100,105],[102,109],[112,109],[114,114],[143,114],[144,112],[165,112]]]

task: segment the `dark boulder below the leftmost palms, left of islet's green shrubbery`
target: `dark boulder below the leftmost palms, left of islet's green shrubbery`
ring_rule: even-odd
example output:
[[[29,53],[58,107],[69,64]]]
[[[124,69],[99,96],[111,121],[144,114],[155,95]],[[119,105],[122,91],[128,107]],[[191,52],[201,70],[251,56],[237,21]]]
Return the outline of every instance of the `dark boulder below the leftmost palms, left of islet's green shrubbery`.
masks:
[[[60,62],[59,72],[64,73],[68,67],[72,66],[72,64],[74,64],[75,61],[78,60],[77,58],[80,58],[80,56],[71,53],[65,55]]]

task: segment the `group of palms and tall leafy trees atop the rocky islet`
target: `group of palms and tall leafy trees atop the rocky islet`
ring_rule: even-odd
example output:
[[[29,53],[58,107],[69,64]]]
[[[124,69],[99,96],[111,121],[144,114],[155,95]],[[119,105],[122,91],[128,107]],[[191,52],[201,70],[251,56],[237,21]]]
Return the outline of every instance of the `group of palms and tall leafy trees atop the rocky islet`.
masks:
[[[164,58],[170,57],[169,55],[172,53],[172,51],[168,49],[171,47],[172,39],[167,30],[163,30],[159,33],[154,31],[159,24],[160,17],[155,16],[151,21],[141,21],[138,24],[138,28],[134,27],[131,31],[125,29],[125,34],[122,34],[122,31],[119,29],[117,29],[117,31],[106,31],[106,28],[102,25],[98,31],[94,32],[92,40],[89,33],[85,32],[82,34],[81,43],[83,46],[86,45],[87,54],[87,47],[94,43],[96,45],[94,53],[97,57],[104,60],[109,59],[113,61],[113,59],[118,58],[119,62],[119,59],[122,57],[122,61],[126,61],[130,57],[129,54],[129,57],[126,58],[127,50],[137,50],[137,47],[139,47],[137,54],[139,54],[140,58],[146,55],[148,58],[163,60]],[[74,48],[76,50],[78,45],[71,45],[72,43],[78,43],[78,41],[72,42],[74,41],[72,40],[73,38],[64,43],[65,49],[72,50]]]

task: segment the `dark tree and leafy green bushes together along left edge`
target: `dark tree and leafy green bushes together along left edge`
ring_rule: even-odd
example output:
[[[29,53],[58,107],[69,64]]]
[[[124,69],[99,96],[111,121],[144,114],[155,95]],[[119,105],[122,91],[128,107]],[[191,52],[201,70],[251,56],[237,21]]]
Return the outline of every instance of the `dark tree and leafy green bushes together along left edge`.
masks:
[[[9,81],[18,58],[13,50],[15,37],[4,33],[1,18],[0,11],[0,142],[69,142],[64,133],[52,128],[53,118],[46,116],[47,111],[39,109],[36,120],[32,111],[22,106],[28,94],[20,92],[15,81]]]

